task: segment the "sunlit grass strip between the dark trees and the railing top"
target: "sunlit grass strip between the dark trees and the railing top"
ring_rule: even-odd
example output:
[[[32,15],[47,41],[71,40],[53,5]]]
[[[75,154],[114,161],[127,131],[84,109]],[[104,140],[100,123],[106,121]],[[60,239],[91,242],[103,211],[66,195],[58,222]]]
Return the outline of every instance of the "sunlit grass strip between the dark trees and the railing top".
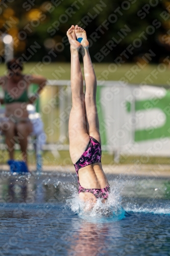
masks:
[[[166,67],[164,72],[158,67],[158,65],[146,65],[141,64],[144,68],[139,68],[138,71],[133,72],[135,63],[124,64],[121,67],[117,66],[115,69],[110,66],[111,63],[93,63],[95,74],[98,80],[122,80],[123,77],[130,83],[141,83],[149,75],[150,78],[146,79],[147,84],[167,84],[169,80],[169,67]],[[40,67],[40,68],[38,68]],[[81,63],[82,71],[83,65]],[[0,76],[4,74],[6,67],[4,64],[0,65]],[[62,70],[63,73],[60,76],[56,74],[56,70]],[[154,75],[155,72],[158,74]],[[24,66],[24,73],[40,74],[45,76],[47,79],[70,79],[70,63],[69,62],[53,62],[50,65],[37,65],[37,62],[29,62]],[[151,80],[149,80],[151,79]]]

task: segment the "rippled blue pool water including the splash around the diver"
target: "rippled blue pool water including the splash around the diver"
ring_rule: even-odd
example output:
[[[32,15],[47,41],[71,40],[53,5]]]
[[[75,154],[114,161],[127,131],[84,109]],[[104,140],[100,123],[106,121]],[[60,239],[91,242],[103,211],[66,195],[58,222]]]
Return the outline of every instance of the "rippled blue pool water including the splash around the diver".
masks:
[[[170,255],[170,180],[108,176],[90,211],[69,173],[0,180],[0,255]]]

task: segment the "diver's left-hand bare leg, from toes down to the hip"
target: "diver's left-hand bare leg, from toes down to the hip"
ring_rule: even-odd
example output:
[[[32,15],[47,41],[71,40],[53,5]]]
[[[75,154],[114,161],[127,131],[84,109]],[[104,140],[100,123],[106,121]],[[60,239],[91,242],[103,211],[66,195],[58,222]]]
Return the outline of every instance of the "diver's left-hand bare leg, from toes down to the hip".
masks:
[[[83,76],[79,61],[79,49],[81,44],[76,40],[75,27],[67,31],[71,51],[71,91],[72,109],[69,116],[69,151],[73,163],[76,163],[83,154],[89,136],[86,130],[85,101],[83,94]]]

